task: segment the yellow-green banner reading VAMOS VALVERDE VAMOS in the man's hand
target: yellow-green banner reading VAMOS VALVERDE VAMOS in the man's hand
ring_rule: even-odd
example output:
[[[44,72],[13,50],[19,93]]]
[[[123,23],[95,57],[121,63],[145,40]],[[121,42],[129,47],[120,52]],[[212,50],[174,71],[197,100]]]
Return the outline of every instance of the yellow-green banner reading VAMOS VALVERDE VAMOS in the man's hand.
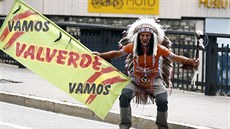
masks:
[[[16,0],[0,49],[104,119],[130,80],[55,23]]]

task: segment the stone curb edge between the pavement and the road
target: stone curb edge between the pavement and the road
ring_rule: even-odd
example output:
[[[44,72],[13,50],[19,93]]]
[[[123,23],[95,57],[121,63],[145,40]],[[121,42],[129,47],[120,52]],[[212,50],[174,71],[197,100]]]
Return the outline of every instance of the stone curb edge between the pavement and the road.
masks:
[[[119,125],[120,115],[118,112],[109,112],[107,117],[102,120],[83,105],[4,91],[0,91],[0,101]],[[132,123],[132,127],[134,128],[141,127],[143,129],[157,129],[155,119],[134,115],[132,116]],[[168,121],[168,124],[170,129],[210,129],[207,127],[193,126],[170,121]]]

